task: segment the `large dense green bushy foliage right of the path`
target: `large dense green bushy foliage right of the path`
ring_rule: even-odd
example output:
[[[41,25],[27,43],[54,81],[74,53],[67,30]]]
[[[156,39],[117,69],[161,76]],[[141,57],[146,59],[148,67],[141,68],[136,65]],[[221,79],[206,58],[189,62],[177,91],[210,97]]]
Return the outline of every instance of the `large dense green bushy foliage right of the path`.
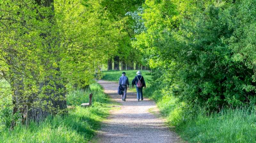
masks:
[[[143,8],[147,30],[133,46],[180,103],[220,110],[255,96],[254,1],[148,0]]]

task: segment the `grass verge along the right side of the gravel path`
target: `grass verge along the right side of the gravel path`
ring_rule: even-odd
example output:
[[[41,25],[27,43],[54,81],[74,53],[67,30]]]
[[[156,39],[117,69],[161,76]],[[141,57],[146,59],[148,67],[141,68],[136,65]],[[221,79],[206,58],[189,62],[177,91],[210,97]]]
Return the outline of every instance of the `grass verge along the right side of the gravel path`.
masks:
[[[256,106],[224,108],[209,113],[197,109],[189,114],[175,97],[167,96],[161,88],[149,87],[145,94],[157,102],[168,124],[189,143],[256,143]]]

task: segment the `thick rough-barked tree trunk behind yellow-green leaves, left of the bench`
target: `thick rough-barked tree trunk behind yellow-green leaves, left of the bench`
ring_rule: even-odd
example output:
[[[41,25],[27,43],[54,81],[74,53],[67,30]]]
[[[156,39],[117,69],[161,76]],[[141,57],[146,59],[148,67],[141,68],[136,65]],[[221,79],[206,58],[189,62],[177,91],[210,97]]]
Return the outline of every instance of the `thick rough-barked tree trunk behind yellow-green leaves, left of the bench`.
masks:
[[[53,0],[36,0],[36,2],[39,5],[51,7],[52,12],[54,12]],[[48,18],[50,19],[52,25],[54,25],[55,22],[53,21],[52,17],[53,15],[50,15]],[[52,39],[56,38],[52,37],[51,33],[42,33],[41,35],[44,39],[46,39],[47,37],[51,37]],[[48,44],[45,43],[49,48],[49,52],[52,51],[52,41],[49,41]],[[47,60],[45,59],[42,59],[42,62],[45,62],[45,65],[48,64]],[[59,62],[58,59],[56,60],[56,62]],[[67,108],[67,101],[65,96],[66,88],[63,85],[63,79],[60,76],[60,68],[53,68],[53,66],[51,66],[51,68],[51,70],[53,70],[54,72],[52,74],[46,75],[44,81],[38,83],[39,92],[32,95],[30,102],[33,104],[32,106],[30,106],[30,109],[27,112],[28,121],[34,120],[36,122],[39,122],[46,118],[48,115],[55,115],[56,113],[61,113],[62,110]]]

